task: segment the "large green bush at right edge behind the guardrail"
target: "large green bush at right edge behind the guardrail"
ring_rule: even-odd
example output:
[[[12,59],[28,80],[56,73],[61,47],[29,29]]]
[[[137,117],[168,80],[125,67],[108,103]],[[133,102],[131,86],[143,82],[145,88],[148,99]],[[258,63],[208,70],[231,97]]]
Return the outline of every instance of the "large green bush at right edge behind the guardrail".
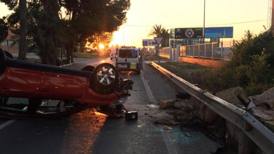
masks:
[[[272,32],[259,35],[249,30],[236,42],[233,56],[219,72],[212,76],[223,89],[241,86],[248,95],[261,94],[274,86],[274,37]]]

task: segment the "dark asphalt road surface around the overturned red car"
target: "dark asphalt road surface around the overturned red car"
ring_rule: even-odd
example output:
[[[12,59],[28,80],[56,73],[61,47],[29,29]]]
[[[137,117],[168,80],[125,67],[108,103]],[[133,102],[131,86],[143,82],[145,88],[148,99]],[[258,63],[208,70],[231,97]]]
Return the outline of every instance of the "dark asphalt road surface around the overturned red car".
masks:
[[[92,58],[69,68],[81,69],[100,63],[115,64],[115,60]],[[205,136],[182,132],[178,126],[164,130],[163,125],[154,124],[144,111],[132,108],[149,105],[157,99],[175,98],[176,91],[156,70],[144,64],[141,74],[121,72],[120,77],[134,81],[126,106],[139,110],[138,120],[126,122],[124,118],[107,117],[94,110],[50,120],[0,118],[0,153],[208,154],[215,151],[215,144]]]

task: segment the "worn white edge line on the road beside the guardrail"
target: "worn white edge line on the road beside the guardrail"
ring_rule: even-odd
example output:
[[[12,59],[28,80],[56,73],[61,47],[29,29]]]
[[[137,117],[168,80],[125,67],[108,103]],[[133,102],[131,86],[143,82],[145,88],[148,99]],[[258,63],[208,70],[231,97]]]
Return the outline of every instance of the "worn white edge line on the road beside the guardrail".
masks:
[[[145,79],[144,79],[144,72],[143,72],[143,71],[141,71],[141,78],[142,78],[142,81],[143,81],[143,83],[144,83],[145,90],[146,90],[146,92],[147,92],[147,94],[148,94],[148,96],[149,96],[149,101],[150,101],[150,102],[156,103],[157,101],[156,101],[156,99],[154,98],[154,96],[153,96],[153,94],[152,94],[152,91],[151,91],[151,89],[149,88],[148,83],[147,83],[147,82],[145,81]],[[160,127],[159,124],[158,124],[158,126]],[[163,132],[163,131],[161,131],[161,133],[162,133],[162,136],[163,136],[165,145],[166,145],[166,147],[167,147],[167,149],[168,149],[168,153],[169,153],[169,154],[178,154],[178,152],[177,152],[177,150],[176,150],[176,147],[175,147],[174,145],[168,145],[168,142],[167,142],[167,141],[170,141],[170,140],[171,140],[171,137],[170,137],[169,133],[166,133],[166,132]]]

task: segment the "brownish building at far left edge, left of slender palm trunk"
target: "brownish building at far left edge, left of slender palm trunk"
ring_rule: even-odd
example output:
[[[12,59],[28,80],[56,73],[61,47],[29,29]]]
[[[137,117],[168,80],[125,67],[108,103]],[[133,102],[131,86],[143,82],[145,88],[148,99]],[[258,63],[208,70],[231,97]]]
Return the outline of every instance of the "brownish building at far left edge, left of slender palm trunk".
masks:
[[[15,29],[15,28],[10,27],[8,29],[7,38],[3,42],[0,42],[0,47],[3,50],[17,53],[19,51],[19,43],[16,41],[16,39],[18,38],[15,38],[15,34],[12,33],[10,29]]]

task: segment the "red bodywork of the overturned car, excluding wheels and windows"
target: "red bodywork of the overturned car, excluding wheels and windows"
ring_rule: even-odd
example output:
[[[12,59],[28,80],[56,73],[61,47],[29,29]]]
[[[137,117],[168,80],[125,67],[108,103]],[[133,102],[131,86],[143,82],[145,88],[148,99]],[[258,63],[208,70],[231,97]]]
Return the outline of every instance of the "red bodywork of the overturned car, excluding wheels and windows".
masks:
[[[1,51],[0,51],[1,52]],[[92,73],[56,66],[5,59],[0,66],[0,96],[45,100],[73,100],[81,107],[62,114],[51,114],[47,117],[58,117],[76,113],[88,108],[111,105],[127,96],[128,91],[120,89],[111,94],[98,94],[92,90]],[[0,116],[11,118],[39,118],[41,115],[9,113],[0,109]],[[43,115],[44,117],[44,115]]]

